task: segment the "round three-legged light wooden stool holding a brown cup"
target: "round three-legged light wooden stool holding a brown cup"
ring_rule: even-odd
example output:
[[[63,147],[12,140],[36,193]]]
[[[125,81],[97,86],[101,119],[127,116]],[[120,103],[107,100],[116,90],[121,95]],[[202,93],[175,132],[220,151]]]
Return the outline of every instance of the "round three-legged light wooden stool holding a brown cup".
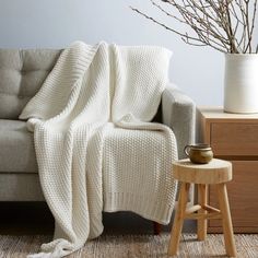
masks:
[[[213,159],[209,164],[192,164],[189,160],[177,161],[173,164],[174,177],[181,183],[178,207],[172,228],[168,255],[176,255],[181,227],[185,219],[198,220],[197,236],[204,241],[207,236],[207,220],[222,219],[226,254],[236,256],[231,211],[227,199],[226,181],[232,179],[232,164]],[[198,185],[198,204],[187,208],[190,184]],[[220,210],[207,203],[208,185],[215,184]],[[197,212],[197,213],[196,213]]]

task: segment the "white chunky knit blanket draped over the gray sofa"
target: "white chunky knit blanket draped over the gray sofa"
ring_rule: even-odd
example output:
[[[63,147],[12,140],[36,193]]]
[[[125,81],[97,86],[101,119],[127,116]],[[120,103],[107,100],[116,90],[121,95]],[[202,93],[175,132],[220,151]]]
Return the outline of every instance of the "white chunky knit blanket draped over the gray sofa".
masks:
[[[54,241],[31,257],[63,257],[103,232],[102,212],[129,210],[168,223],[176,183],[173,131],[149,122],[167,83],[171,52],[81,42],[63,50],[23,109],[34,131]]]

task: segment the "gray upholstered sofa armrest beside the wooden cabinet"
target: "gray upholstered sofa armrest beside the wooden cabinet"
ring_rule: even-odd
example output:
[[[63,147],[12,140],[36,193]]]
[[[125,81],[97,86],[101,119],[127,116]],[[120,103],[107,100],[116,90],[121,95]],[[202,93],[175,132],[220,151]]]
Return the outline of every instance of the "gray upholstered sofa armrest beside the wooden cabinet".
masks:
[[[178,149],[178,159],[186,157],[184,148],[195,142],[196,105],[175,84],[167,84],[162,95],[163,124],[172,128]]]

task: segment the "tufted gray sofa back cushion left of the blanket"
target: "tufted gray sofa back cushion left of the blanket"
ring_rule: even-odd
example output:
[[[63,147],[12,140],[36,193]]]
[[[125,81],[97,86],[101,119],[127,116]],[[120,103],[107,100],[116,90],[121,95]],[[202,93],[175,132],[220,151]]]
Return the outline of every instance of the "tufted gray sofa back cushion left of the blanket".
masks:
[[[52,49],[0,49],[0,119],[17,119],[60,52]]]

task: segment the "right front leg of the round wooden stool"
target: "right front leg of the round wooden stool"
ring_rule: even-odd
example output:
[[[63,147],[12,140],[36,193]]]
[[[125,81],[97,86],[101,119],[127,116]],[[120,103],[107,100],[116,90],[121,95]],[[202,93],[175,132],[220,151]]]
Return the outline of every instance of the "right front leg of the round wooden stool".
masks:
[[[220,210],[222,214],[222,226],[223,226],[223,233],[224,233],[226,254],[231,257],[235,257],[236,248],[235,248],[235,241],[234,241],[234,234],[233,234],[233,226],[232,226],[232,220],[231,220],[231,211],[230,211],[230,206],[228,206],[226,185],[219,184],[216,186],[216,189],[218,189]]]

